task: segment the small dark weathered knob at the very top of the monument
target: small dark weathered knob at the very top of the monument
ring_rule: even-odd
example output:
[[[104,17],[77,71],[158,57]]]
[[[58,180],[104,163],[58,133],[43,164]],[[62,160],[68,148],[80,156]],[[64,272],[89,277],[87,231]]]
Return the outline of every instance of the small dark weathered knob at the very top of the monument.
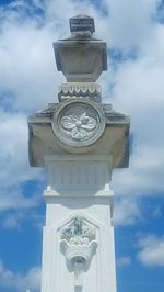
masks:
[[[71,18],[70,31],[71,33],[89,31],[93,34],[95,32],[94,19],[83,14]]]

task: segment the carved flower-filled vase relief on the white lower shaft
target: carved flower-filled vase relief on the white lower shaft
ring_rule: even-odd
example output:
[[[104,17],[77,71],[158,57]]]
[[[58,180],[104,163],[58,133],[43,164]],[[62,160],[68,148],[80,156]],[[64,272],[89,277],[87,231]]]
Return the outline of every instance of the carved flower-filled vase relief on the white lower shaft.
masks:
[[[74,285],[82,287],[82,273],[90,266],[97,242],[96,231],[81,217],[75,216],[67,228],[61,231],[60,246],[66,261],[74,270]]]

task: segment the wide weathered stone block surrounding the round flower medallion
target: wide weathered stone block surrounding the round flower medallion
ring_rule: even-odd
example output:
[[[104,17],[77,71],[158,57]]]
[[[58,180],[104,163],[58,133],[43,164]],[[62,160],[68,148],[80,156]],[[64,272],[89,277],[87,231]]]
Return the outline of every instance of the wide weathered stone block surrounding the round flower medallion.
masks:
[[[79,100],[81,101],[81,99]],[[67,103],[62,102],[62,104]],[[78,143],[78,147],[75,147],[61,142],[52,131],[51,124],[58,106],[59,104],[50,104],[47,110],[37,112],[28,117],[31,166],[44,166],[45,154],[90,153],[91,155],[104,154],[107,157],[110,155],[114,167],[128,167],[130,125],[128,116],[113,111],[109,104],[98,105],[105,115],[106,126],[104,133],[90,145],[83,145],[81,141],[75,141]]]

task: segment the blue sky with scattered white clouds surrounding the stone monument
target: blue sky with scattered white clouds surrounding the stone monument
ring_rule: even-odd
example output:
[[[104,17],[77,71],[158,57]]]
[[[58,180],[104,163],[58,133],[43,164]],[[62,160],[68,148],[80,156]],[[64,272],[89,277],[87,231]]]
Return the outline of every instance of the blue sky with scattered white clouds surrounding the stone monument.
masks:
[[[39,291],[44,169],[27,116],[57,102],[52,42],[89,14],[107,42],[103,102],[131,117],[129,168],[113,172],[117,292],[164,291],[164,1],[0,0],[0,292]]]

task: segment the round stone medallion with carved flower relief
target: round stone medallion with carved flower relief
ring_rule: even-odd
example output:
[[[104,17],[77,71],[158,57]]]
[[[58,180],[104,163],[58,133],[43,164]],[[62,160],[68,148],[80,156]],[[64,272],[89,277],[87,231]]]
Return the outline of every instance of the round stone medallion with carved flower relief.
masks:
[[[102,108],[86,99],[71,99],[57,108],[52,131],[62,145],[83,148],[94,144],[105,130]]]

